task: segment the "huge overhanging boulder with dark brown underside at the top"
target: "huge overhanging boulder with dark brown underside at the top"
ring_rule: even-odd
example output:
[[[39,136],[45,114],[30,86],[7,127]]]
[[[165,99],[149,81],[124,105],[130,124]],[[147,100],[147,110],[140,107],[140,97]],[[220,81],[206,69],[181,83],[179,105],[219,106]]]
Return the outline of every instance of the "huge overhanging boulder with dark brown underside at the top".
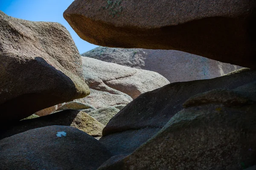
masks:
[[[96,45],[185,51],[256,68],[255,0],[75,0],[64,18]]]

